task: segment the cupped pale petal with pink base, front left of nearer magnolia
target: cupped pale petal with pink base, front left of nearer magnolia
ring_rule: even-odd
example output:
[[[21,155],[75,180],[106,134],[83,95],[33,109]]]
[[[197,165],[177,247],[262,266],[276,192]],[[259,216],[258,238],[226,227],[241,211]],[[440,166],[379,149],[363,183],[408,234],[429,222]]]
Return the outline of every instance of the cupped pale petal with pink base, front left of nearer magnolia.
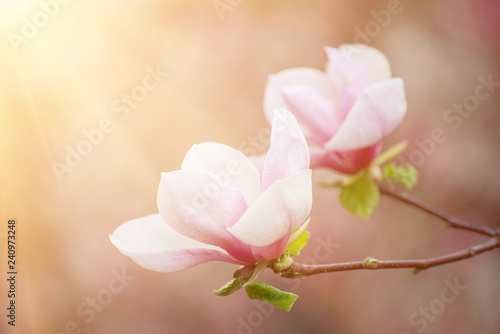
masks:
[[[250,246],[226,230],[247,207],[241,192],[213,173],[201,170],[162,173],[158,210],[171,228],[194,240],[219,246],[238,260],[253,262]]]

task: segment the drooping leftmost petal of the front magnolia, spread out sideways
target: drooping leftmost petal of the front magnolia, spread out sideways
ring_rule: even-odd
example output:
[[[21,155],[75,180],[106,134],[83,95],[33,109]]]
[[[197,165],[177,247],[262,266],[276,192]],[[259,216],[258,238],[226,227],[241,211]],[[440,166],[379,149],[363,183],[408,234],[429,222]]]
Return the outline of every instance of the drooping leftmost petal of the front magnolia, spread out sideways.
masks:
[[[155,271],[178,271],[208,261],[245,264],[219,247],[175,232],[158,214],[123,223],[109,237],[122,254]]]

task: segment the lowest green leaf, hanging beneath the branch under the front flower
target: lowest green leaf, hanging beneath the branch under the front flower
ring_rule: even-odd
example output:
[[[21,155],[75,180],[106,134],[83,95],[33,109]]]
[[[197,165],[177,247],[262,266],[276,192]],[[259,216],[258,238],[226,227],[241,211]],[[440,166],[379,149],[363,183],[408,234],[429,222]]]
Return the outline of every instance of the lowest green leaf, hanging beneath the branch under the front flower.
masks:
[[[299,298],[296,294],[284,292],[261,282],[253,282],[245,286],[250,299],[260,299],[282,310],[290,311],[293,303]]]

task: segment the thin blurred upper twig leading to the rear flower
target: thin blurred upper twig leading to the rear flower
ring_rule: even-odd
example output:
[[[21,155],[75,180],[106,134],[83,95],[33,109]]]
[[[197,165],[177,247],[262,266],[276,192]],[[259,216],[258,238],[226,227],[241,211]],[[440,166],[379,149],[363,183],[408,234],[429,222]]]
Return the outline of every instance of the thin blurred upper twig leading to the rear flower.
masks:
[[[409,205],[416,207],[420,210],[423,210],[427,213],[430,213],[431,215],[447,222],[450,225],[450,227],[459,228],[462,230],[467,230],[467,231],[471,231],[471,232],[475,232],[475,233],[479,233],[479,234],[483,234],[483,235],[488,235],[488,236],[497,236],[500,234],[498,232],[498,230],[494,230],[494,229],[487,227],[487,226],[473,224],[470,222],[466,222],[465,220],[461,220],[461,219],[452,217],[439,209],[432,208],[432,207],[428,206],[427,204],[419,202],[419,201],[417,201],[417,200],[415,200],[407,195],[399,195],[399,194],[393,193],[392,191],[389,191],[389,190],[386,190],[383,188],[380,188],[380,193],[385,195],[385,196],[397,199],[403,203],[409,204]]]

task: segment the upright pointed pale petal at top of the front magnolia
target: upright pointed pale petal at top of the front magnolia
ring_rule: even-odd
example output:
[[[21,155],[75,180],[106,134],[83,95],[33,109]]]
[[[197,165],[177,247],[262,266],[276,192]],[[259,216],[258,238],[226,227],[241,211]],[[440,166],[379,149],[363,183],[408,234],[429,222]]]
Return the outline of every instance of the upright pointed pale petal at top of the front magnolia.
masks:
[[[262,190],[273,182],[309,168],[309,150],[295,117],[286,109],[275,112],[271,144],[262,173]]]

